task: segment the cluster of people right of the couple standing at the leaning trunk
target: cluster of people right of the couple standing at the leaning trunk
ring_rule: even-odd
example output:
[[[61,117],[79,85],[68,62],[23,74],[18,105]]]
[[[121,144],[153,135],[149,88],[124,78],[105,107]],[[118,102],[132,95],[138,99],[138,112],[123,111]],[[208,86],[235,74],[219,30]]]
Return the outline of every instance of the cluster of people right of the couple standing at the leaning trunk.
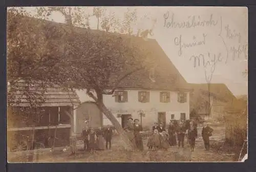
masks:
[[[206,150],[209,150],[209,137],[212,132],[212,128],[208,125],[203,127],[202,137]],[[168,146],[177,145],[178,140],[178,147],[184,147],[185,136],[187,136],[187,144],[189,145],[191,152],[193,152],[195,149],[196,138],[198,137],[196,122],[183,120],[170,121],[167,131],[163,123],[160,123],[159,125],[155,123],[152,127],[152,134],[148,137],[147,146],[149,149],[167,149]]]

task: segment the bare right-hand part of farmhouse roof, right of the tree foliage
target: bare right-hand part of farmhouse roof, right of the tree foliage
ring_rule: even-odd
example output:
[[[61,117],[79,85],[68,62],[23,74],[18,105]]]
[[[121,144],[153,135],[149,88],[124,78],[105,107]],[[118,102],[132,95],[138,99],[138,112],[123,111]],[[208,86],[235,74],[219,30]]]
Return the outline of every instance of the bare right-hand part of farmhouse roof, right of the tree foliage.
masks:
[[[150,58],[155,61],[154,81],[152,81],[150,78],[149,70],[141,70],[124,78],[119,83],[118,88],[152,90],[190,89],[185,79],[182,77],[155,39],[147,39],[147,41],[145,41],[143,38],[136,36],[134,36],[134,39],[137,39],[138,44],[143,44],[144,46],[147,46],[148,49],[153,50]],[[125,71],[123,71],[123,73],[125,73]],[[110,86],[115,84],[115,79],[112,78],[112,80],[110,81]]]

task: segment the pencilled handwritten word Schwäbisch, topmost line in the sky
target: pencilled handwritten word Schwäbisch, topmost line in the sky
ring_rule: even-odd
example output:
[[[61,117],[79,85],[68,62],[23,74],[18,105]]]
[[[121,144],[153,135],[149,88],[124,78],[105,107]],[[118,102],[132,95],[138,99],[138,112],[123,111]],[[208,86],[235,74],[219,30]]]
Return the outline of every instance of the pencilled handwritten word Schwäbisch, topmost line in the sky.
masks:
[[[213,27],[218,24],[218,20],[214,20],[213,14],[210,15],[208,20],[201,20],[200,16],[188,16],[188,19],[183,22],[175,21],[174,13],[170,14],[167,11],[164,14],[164,27],[165,28],[178,28],[178,29],[190,29],[197,27]]]

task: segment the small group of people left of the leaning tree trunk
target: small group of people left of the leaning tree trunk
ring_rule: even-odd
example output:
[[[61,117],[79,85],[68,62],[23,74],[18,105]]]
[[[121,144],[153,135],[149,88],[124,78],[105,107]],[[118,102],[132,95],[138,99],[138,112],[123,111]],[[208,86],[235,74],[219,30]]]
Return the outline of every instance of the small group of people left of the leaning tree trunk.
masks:
[[[83,149],[84,151],[94,152],[94,150],[111,149],[111,140],[113,135],[113,130],[110,125],[108,125],[104,130],[98,127],[98,130],[90,128],[87,121],[84,121],[85,126],[82,130],[83,138]],[[105,140],[105,145],[104,145]]]

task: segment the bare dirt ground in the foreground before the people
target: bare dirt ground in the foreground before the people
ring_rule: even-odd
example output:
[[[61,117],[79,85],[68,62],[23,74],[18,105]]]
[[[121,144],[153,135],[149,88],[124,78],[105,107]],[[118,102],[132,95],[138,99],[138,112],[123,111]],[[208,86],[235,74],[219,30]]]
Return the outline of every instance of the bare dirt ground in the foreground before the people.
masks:
[[[120,138],[113,138],[111,150],[97,150],[95,153],[78,152],[76,156],[70,156],[70,152],[59,152],[55,155],[39,156],[37,162],[216,162],[234,161],[234,153],[226,152],[222,147],[225,138],[223,126],[212,126],[214,134],[211,136],[211,149],[204,149],[201,136],[202,127],[198,127],[198,138],[196,139],[196,148],[190,152],[189,147],[178,148],[169,147],[167,150],[148,150],[146,147],[147,138],[144,138],[144,150],[142,152],[125,150],[120,142]],[[82,147],[78,145],[78,148]]]

